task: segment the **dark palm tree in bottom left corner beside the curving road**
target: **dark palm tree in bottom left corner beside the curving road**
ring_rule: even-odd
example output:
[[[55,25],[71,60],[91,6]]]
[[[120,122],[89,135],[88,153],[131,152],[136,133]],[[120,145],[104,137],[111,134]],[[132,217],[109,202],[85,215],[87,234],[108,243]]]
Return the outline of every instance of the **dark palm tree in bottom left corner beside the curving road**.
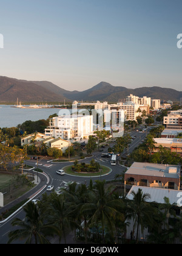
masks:
[[[13,230],[9,233],[8,244],[18,239],[25,239],[25,244],[49,244],[44,234],[47,231],[44,218],[38,210],[38,206],[33,202],[29,202],[24,206],[25,219],[14,219],[12,226],[17,226],[19,229]]]

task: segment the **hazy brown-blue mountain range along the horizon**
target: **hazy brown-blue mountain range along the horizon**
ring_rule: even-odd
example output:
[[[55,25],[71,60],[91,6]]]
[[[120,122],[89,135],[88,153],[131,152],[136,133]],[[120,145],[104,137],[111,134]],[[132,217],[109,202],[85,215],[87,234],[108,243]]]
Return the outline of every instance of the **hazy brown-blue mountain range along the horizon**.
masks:
[[[68,91],[48,81],[28,81],[0,76],[0,102],[72,102],[72,101],[108,101],[118,102],[126,96],[147,96],[152,99],[179,102],[182,91],[162,87],[140,87],[128,89],[100,82],[84,91]]]

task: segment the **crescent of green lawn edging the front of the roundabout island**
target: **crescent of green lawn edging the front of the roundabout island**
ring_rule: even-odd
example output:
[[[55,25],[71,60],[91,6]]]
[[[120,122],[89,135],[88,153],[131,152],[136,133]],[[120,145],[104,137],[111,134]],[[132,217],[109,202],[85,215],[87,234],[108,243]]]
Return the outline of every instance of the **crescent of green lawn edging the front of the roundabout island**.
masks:
[[[74,172],[72,171],[72,166],[73,165],[69,165],[69,166],[65,166],[63,169],[67,174],[71,174],[74,176],[83,176],[83,177],[95,177],[95,176],[100,176],[100,175],[104,175],[104,174],[108,174],[110,172],[110,168],[108,168],[107,166],[101,165],[102,171],[100,172]]]

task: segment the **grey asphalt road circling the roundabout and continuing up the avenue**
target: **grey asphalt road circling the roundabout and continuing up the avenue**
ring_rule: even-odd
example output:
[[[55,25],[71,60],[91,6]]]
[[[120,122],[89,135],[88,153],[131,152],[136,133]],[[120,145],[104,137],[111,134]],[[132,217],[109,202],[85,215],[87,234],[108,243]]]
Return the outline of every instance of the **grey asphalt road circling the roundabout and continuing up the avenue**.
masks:
[[[135,140],[132,141],[132,143],[129,146],[128,152],[127,153],[131,153],[133,151],[133,149],[135,149],[138,144],[141,143],[142,140],[144,140],[144,138],[146,137],[147,131],[144,133],[140,133],[140,132],[131,132],[130,135],[131,136],[136,136]],[[112,147],[114,145],[111,144],[110,147]],[[103,152],[95,152],[93,154],[93,159],[95,159],[96,161],[98,161],[99,163],[101,163],[102,165],[106,165],[109,168],[112,168],[112,172],[110,172],[110,174],[107,174],[107,176],[103,176],[103,177],[92,177],[92,181],[93,183],[95,182],[95,180],[98,179],[102,179],[102,180],[113,180],[115,179],[115,175],[116,174],[122,174],[124,169],[122,166],[120,165],[116,165],[116,166],[111,166],[110,165],[110,158],[101,158],[101,154],[107,152],[107,148],[104,149]],[[121,156],[123,156],[125,153],[123,153]],[[85,162],[85,163],[89,163],[90,160],[92,158],[86,158],[84,160],[81,160],[81,162]],[[27,161],[28,165],[31,166],[35,166],[36,167],[36,161]],[[45,172],[45,174],[47,174],[48,179],[43,176],[42,174],[38,174],[39,175],[39,185],[34,188],[32,191],[30,191],[29,193],[25,194],[24,198],[28,198],[29,196],[32,196],[33,193],[35,193],[38,190],[41,190],[41,188],[43,188],[45,185],[46,187],[35,197],[35,199],[41,197],[41,195],[43,193],[45,193],[46,188],[48,185],[53,185],[55,190],[58,187],[64,187],[66,186],[67,182],[70,181],[75,181],[78,184],[81,183],[86,183],[86,185],[89,185],[90,182],[90,177],[78,177],[78,176],[69,176],[67,174],[65,174],[64,176],[59,176],[58,174],[56,174],[56,171],[58,169],[62,169],[64,166],[67,165],[72,165],[72,163],[66,163],[66,162],[62,162],[62,163],[47,163],[47,161],[41,160],[38,163],[38,168],[41,168],[42,171]],[[51,193],[51,192],[48,192]],[[19,210],[19,212],[17,212],[15,215],[12,216],[12,218],[8,219],[5,222],[0,222],[0,244],[7,244],[8,241],[8,233],[10,232],[10,230],[16,229],[16,227],[12,227],[11,222],[14,218],[19,218],[19,219],[24,219],[25,218],[25,214],[23,210]],[[21,244],[24,243],[23,241],[17,241],[15,243]]]

